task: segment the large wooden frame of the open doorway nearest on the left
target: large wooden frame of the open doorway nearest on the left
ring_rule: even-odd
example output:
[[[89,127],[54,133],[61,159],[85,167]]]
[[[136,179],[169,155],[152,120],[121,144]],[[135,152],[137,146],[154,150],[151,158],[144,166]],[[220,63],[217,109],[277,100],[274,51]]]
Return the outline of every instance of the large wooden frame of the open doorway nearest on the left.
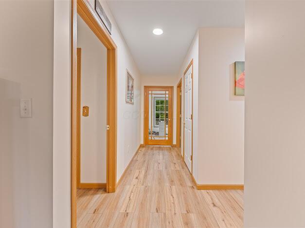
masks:
[[[116,189],[117,46],[87,0],[72,0],[71,8],[71,228],[76,228],[77,151],[80,133],[77,121],[80,115],[77,103],[77,14],[107,48],[107,192]]]

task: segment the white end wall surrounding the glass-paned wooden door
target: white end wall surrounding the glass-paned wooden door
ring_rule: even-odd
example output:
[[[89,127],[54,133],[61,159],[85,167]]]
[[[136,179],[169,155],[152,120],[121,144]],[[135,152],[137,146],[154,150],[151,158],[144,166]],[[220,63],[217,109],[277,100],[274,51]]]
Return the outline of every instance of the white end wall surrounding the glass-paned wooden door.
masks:
[[[176,144],[176,103],[177,76],[175,75],[146,75],[142,76],[141,86],[141,143],[144,143],[144,86],[174,86],[173,89],[173,144]]]

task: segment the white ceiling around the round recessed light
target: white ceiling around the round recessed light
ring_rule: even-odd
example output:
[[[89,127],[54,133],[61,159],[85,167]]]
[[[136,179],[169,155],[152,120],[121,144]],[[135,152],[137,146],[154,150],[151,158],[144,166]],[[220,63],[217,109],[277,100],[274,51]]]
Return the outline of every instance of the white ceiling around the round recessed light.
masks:
[[[142,75],[175,75],[200,27],[244,27],[243,0],[108,0]],[[163,34],[156,36],[154,28]]]

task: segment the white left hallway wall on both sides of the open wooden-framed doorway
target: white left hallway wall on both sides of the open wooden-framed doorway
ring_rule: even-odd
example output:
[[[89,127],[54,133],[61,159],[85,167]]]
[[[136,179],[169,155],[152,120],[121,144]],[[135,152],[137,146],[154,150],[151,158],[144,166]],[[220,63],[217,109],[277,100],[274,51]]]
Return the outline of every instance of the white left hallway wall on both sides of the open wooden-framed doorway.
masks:
[[[118,133],[117,180],[140,145],[141,76],[106,2],[102,6],[112,23],[117,49]],[[70,123],[71,123],[71,3],[54,2],[54,228],[70,226]],[[102,25],[102,22],[100,22]],[[69,26],[69,27],[68,27]],[[102,25],[103,26],[103,25]],[[68,62],[69,60],[69,62]],[[56,66],[56,68],[55,68]],[[135,104],[125,102],[126,68],[135,79]],[[55,103],[55,97],[57,102]],[[62,108],[61,112],[60,108]],[[68,108],[68,109],[67,109]],[[62,124],[62,126],[61,126]],[[62,130],[62,131],[60,131]],[[57,136],[58,135],[58,136]],[[62,138],[59,138],[59,135]],[[130,145],[128,152],[128,145]],[[61,175],[60,175],[61,173]],[[56,188],[55,188],[56,187]]]

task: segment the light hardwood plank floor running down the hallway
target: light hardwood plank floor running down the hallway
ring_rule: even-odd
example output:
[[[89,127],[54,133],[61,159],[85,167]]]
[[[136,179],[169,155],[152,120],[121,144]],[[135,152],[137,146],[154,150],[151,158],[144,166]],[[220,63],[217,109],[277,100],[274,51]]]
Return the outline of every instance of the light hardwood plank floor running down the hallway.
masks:
[[[115,193],[77,190],[77,227],[243,227],[242,190],[196,190],[179,151],[141,148]]]

